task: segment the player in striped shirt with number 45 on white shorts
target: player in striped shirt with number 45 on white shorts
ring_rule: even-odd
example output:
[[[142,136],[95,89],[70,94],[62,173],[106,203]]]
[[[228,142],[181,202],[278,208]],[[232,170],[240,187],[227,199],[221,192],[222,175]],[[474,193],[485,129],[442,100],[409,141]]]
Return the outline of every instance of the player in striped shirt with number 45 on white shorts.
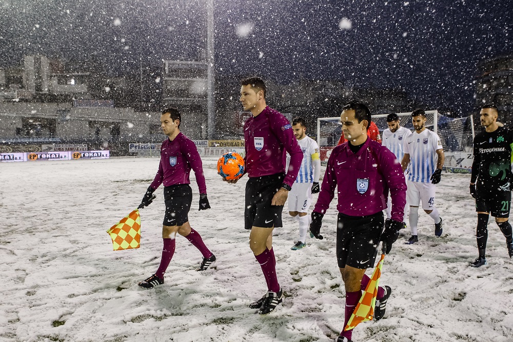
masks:
[[[435,184],[442,178],[444,165],[444,150],[440,137],[433,131],[426,129],[426,113],[416,109],[411,113],[411,122],[415,132],[406,138],[403,145],[404,157],[401,162],[403,172],[409,164],[408,189],[406,201],[410,206],[409,224],[411,237],[408,244],[419,241],[417,224],[419,222],[419,204],[435,221],[435,235],[442,235],[442,218],[435,207]]]

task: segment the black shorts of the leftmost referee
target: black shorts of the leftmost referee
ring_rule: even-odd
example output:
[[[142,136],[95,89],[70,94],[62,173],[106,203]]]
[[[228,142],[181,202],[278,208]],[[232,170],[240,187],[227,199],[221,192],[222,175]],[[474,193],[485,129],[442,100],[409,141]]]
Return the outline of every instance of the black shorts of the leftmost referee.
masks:
[[[189,184],[176,184],[164,188],[166,215],[163,225],[182,225],[189,221],[187,214],[192,203],[192,189]]]

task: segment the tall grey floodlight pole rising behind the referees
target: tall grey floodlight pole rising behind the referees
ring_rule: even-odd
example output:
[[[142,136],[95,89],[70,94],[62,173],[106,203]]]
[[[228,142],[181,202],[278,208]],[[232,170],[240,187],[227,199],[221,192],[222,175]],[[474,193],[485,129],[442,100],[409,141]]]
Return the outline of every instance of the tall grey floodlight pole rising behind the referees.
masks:
[[[215,135],[214,103],[214,1],[207,0],[207,135]]]

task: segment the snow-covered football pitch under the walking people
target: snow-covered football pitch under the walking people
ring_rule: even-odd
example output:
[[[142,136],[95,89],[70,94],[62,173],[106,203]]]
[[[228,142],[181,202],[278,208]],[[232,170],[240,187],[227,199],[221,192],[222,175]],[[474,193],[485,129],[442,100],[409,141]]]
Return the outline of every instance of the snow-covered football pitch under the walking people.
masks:
[[[298,224],[284,210],[273,246],[285,300],[267,316],[248,308],[265,280],[244,230],[245,176],[222,182],[205,159],[211,210],[191,226],[218,257],[217,270],[196,272],[201,254],[178,236],[165,284],[137,282],[156,271],[162,251],[164,202],[141,210],[141,248],[112,251],[106,231],[139,205],[156,173],[156,158],[0,164],[0,340],[2,341],[332,341],[343,328],[344,287],[335,257],[336,199],[325,215],[324,240],[291,251]],[[323,170],[324,173],[324,170]],[[322,173],[322,174],[323,174]],[[419,242],[404,232],[385,258],[385,318],[364,322],[355,341],[513,340],[513,260],[493,220],[488,265],[477,257],[477,215],[468,175],[443,174],[437,207],[444,234],[420,213]],[[315,202],[315,199],[314,199]],[[371,270],[367,271],[368,274]]]

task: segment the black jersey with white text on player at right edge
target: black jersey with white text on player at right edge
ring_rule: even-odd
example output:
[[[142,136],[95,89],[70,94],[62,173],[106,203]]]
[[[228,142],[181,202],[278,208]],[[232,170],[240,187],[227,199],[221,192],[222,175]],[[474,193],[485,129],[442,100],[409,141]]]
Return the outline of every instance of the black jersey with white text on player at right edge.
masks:
[[[493,132],[482,131],[474,137],[474,161],[471,183],[490,190],[509,189],[511,179],[511,149],[513,131],[499,127]]]

